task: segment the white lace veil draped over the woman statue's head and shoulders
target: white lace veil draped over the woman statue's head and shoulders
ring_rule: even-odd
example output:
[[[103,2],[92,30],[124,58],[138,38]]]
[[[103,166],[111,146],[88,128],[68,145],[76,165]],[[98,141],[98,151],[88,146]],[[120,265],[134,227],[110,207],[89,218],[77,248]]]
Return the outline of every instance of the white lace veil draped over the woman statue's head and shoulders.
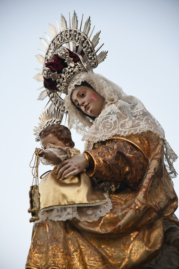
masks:
[[[70,100],[75,85],[80,85],[82,81],[89,83],[107,102],[94,121],[78,111]],[[162,126],[138,98],[125,94],[117,84],[91,71],[82,73],[69,85],[65,108],[73,115],[70,120],[71,126],[78,134],[83,135],[83,141],[96,143],[116,134],[126,136],[148,130],[156,133],[164,141],[166,168],[170,178],[176,177],[173,162],[176,161],[177,155],[166,141]]]

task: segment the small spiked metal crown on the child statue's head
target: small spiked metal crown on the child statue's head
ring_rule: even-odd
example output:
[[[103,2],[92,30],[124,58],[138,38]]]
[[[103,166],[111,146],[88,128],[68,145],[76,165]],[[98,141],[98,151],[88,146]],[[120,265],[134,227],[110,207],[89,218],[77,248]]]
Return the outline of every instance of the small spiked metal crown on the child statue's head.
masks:
[[[47,126],[51,124],[60,124],[63,118],[63,113],[60,113],[59,107],[54,107],[53,112],[48,112],[48,108],[45,111],[42,111],[42,114],[38,117],[40,122],[38,123],[38,127],[34,127],[34,135],[35,141],[40,141],[40,132],[45,129]]]

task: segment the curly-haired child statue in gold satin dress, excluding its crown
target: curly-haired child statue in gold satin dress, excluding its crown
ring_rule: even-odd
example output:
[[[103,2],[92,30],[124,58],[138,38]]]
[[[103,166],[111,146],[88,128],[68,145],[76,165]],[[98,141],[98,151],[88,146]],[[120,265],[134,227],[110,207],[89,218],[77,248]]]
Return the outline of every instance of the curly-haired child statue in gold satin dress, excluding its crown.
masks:
[[[59,163],[70,158],[73,160],[73,156],[80,154],[74,148],[70,130],[59,123],[51,124],[41,130],[39,137],[43,149],[38,148],[37,154],[41,162],[54,165],[39,184],[39,221],[46,218],[65,221],[76,217],[80,221],[91,222],[109,213],[112,204],[108,194],[102,193],[85,171],[77,175],[70,175],[71,171],[68,171],[66,175],[58,177],[56,169]],[[68,166],[68,163],[65,165]],[[74,166],[73,171],[75,169]]]

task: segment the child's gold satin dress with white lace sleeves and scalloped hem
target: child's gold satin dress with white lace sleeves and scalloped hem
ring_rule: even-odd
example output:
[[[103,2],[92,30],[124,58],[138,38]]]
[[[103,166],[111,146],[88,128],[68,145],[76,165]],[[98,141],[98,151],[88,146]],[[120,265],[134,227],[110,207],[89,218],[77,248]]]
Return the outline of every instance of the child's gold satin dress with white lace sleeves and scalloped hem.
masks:
[[[63,148],[47,144],[45,152],[53,152],[61,161],[80,154],[76,148]],[[51,164],[40,158],[43,164]],[[53,164],[55,164],[53,162]],[[57,165],[46,174],[39,184],[41,210],[40,220],[65,221],[76,217],[80,221],[97,221],[99,217],[109,213],[112,203],[108,193],[102,193],[95,181],[84,171],[69,176],[66,179],[57,179],[55,174]],[[39,222],[37,221],[37,222]],[[37,224],[37,222],[34,223]]]

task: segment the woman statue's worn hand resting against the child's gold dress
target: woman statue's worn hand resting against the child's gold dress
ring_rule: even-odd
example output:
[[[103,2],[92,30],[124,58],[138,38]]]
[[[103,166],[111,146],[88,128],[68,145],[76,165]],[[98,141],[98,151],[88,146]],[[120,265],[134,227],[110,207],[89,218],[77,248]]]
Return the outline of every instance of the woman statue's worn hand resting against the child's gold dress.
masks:
[[[84,154],[80,154],[61,162],[58,165],[55,174],[58,174],[57,179],[61,178],[61,180],[63,180],[69,176],[77,175],[85,168],[87,168],[87,160]]]

